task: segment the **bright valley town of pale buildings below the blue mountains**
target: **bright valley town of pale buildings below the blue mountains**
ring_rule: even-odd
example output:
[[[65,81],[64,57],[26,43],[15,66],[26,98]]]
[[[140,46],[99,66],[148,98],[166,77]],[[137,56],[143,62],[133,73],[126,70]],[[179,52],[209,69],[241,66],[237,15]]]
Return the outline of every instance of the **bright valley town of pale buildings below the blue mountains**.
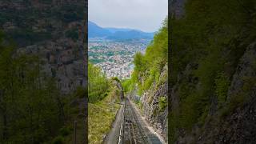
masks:
[[[130,78],[136,52],[146,50],[145,42],[89,41],[89,60],[102,68],[108,78]]]

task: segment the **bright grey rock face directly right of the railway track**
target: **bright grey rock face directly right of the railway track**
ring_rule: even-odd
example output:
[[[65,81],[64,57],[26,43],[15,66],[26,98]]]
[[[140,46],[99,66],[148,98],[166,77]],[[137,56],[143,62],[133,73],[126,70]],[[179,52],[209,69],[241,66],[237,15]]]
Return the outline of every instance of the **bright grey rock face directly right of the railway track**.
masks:
[[[164,66],[160,78],[166,78],[167,65]],[[159,86],[152,86],[146,90],[141,97],[134,96],[134,101],[139,101],[142,114],[146,121],[154,128],[158,134],[162,135],[165,141],[168,141],[168,84],[167,79],[164,79]],[[134,94],[132,94],[134,95]]]

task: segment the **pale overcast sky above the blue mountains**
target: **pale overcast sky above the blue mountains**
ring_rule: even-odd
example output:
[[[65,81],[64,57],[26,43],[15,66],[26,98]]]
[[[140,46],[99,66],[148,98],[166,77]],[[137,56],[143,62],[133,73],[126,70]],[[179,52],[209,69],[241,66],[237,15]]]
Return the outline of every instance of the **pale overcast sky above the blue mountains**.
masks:
[[[168,14],[168,0],[89,0],[89,20],[102,27],[157,31]]]

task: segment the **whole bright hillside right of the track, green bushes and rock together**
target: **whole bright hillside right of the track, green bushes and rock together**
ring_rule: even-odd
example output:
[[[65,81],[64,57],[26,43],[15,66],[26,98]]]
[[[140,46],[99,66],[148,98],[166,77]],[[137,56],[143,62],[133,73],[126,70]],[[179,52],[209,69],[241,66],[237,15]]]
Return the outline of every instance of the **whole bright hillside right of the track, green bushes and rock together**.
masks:
[[[134,56],[132,78],[122,82],[127,95],[138,104],[142,114],[151,126],[167,141],[167,75],[168,75],[168,26],[154,35],[154,40],[146,48],[146,54]]]

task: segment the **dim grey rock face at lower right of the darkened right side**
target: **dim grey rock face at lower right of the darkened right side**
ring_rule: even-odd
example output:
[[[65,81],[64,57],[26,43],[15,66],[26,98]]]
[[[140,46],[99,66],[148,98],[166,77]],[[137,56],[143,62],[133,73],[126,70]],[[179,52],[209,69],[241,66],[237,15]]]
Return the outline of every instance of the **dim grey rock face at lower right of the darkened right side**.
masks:
[[[176,143],[254,143],[256,142],[256,43],[240,58],[224,108],[214,111],[190,134],[181,133]],[[175,94],[174,94],[175,95]],[[172,97],[174,98],[174,95]]]

